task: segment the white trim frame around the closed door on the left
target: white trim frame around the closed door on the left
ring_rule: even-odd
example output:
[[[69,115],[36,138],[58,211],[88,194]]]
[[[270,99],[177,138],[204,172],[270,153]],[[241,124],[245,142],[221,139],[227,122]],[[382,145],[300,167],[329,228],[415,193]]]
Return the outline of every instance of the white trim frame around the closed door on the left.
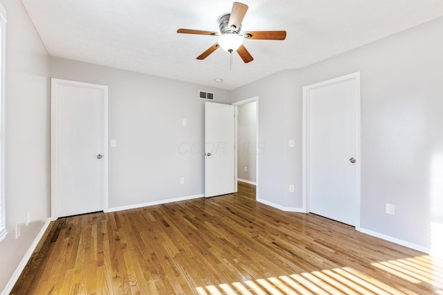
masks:
[[[103,159],[104,169],[103,169],[103,197],[102,197],[102,209],[103,211],[107,211],[108,209],[108,86],[98,85],[98,84],[90,84],[84,82],[71,81],[66,79],[57,79],[51,78],[51,220],[57,220],[60,216],[58,216],[57,212],[57,164],[58,164],[58,150],[57,150],[57,86],[66,85],[66,86],[76,86],[76,87],[84,87],[84,88],[98,88],[103,91],[103,147],[104,147],[104,155]]]

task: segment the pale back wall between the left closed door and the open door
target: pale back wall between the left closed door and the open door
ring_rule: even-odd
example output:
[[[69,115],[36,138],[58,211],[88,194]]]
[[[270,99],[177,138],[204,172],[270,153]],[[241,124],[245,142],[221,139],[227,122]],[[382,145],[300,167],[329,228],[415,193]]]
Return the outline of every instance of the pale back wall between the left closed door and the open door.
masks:
[[[109,86],[109,207],[204,193],[204,100],[229,91],[51,57],[51,77]],[[187,120],[187,126],[182,120]],[[185,178],[185,184],[180,184]]]

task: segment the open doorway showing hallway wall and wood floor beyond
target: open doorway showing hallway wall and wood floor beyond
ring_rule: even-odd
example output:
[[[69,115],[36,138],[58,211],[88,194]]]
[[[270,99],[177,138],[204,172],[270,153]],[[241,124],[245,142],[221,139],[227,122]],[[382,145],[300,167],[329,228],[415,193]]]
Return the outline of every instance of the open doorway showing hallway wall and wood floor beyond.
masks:
[[[258,180],[258,97],[233,104],[235,106],[235,155],[237,180],[235,191],[257,198]]]

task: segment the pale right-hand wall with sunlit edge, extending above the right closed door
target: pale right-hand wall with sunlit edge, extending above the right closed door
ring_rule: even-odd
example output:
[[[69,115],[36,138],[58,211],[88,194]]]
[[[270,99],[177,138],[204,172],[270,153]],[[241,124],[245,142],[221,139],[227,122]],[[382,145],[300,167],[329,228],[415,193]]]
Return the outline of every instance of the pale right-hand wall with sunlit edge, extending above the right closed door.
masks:
[[[442,30],[440,18],[302,75],[305,85],[361,71],[361,227],[428,249],[443,249]]]

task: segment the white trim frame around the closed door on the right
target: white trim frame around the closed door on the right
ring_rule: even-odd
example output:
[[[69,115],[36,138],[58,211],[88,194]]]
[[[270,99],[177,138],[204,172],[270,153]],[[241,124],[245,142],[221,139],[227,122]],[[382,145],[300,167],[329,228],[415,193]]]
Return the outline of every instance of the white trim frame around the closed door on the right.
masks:
[[[324,88],[344,82],[356,82],[356,225],[360,230],[361,210],[361,75],[360,72],[336,77],[316,84],[303,87],[303,115],[302,115],[302,210],[309,213],[309,94],[318,88]]]

